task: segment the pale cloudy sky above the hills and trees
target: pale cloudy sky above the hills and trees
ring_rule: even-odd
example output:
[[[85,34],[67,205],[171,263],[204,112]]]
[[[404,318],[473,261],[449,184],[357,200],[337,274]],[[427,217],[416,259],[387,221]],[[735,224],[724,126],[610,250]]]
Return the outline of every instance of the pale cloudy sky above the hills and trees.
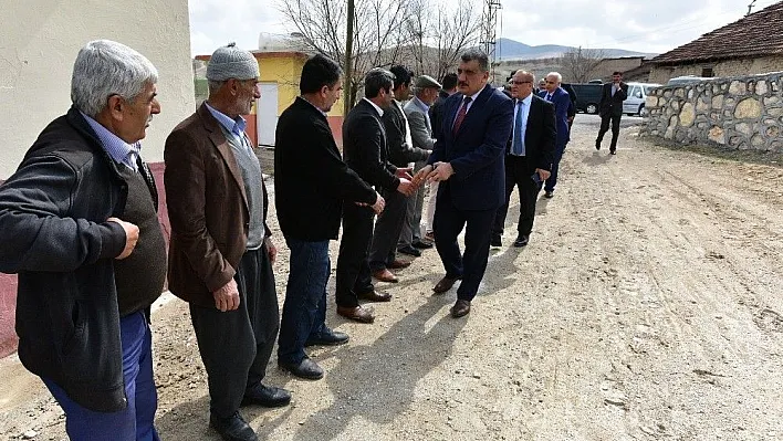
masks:
[[[274,1],[189,0],[191,53],[210,54],[230,41],[253,50],[260,32],[290,32]],[[662,53],[741,19],[752,0],[500,1],[498,38]],[[755,0],[753,11],[777,1]]]

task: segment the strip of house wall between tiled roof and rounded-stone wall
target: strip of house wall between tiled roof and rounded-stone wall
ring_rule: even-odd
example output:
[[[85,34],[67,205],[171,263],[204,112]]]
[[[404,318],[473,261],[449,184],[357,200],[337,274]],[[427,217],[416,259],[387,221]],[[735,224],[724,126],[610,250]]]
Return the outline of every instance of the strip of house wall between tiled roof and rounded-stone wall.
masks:
[[[701,71],[712,67],[713,76],[740,76],[751,74],[764,74],[777,72],[783,69],[783,55],[763,56],[759,59],[728,60],[717,63],[697,63],[680,66],[652,66],[650,71],[650,83],[666,84],[676,76],[695,75],[702,76]]]

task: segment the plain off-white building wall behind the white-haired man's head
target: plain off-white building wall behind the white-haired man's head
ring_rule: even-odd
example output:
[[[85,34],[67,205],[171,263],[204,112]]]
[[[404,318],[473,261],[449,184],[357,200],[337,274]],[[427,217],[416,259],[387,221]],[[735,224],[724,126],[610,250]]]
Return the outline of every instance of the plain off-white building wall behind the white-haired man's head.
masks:
[[[0,0],[0,180],[71,106],[73,62],[87,41],[118,41],[158,69],[147,161],[163,160],[166,136],[194,112],[187,0]]]

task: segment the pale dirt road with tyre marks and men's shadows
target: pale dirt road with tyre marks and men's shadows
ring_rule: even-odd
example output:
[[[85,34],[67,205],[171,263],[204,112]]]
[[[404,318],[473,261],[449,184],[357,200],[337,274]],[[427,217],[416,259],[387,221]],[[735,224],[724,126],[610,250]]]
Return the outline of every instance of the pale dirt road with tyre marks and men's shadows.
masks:
[[[656,147],[627,117],[610,157],[608,139],[593,147],[597,120],[577,116],[530,245],[492,251],[466,319],[448,316],[453,290],[431,295],[435,251],[379,284],[395,298],[374,325],[335,316],[331,298],[327,323],[352,340],[313,351],[321,381],[272,360],[268,381],[294,401],[243,410],[262,439],[783,438],[783,168]],[[216,440],[186,305],[153,318],[161,438]],[[13,357],[0,378],[2,439],[64,438],[59,407]]]

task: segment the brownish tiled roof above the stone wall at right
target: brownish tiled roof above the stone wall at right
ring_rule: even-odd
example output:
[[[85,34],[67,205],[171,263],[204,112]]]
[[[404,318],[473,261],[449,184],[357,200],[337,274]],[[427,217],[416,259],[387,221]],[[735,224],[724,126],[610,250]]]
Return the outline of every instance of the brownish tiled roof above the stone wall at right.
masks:
[[[654,64],[783,55],[783,1],[701,35],[651,60]]]

